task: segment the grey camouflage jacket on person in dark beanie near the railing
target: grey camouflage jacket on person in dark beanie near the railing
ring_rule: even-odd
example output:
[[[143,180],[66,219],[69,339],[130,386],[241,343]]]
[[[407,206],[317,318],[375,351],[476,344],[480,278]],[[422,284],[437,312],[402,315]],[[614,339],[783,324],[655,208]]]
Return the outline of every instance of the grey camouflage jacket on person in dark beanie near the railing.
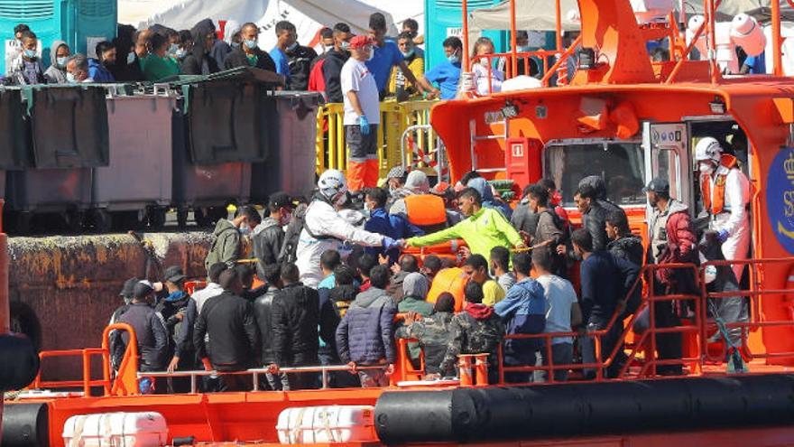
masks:
[[[420,321],[414,321],[411,326],[402,326],[397,330],[399,339],[419,340],[421,349],[425,353],[425,372],[428,374],[440,373],[439,366],[447,354],[452,333],[449,323],[452,321],[451,312],[438,312]]]

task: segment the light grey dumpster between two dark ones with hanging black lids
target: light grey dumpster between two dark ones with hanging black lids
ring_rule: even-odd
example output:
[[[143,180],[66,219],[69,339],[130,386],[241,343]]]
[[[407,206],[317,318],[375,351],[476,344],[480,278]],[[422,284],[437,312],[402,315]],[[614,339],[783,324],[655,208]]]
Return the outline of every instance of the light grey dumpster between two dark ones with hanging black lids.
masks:
[[[94,168],[91,188],[97,229],[109,230],[118,218],[134,218],[128,220],[134,226],[148,221],[152,228],[161,228],[171,205],[171,114],[176,94],[168,86],[134,92],[106,88],[110,160],[106,167]]]

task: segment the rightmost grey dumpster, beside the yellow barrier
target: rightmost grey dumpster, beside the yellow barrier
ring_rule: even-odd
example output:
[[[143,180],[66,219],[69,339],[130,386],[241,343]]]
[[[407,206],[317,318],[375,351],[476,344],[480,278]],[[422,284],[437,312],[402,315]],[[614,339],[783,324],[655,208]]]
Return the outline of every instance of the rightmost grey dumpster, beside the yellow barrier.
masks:
[[[271,135],[271,153],[266,163],[254,163],[251,200],[264,203],[274,191],[307,196],[314,189],[317,164],[317,92],[274,91],[277,132]]]

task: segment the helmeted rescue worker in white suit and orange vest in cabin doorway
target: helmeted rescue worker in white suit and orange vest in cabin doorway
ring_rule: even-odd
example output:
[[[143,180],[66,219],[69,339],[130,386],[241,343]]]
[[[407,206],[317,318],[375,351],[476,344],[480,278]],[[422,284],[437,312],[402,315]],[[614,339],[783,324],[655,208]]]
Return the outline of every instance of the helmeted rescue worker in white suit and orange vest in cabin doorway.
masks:
[[[708,228],[716,231],[726,260],[747,259],[750,251],[750,180],[739,169],[736,157],[723,154],[715,138],[707,136],[695,146],[700,172],[700,194]],[[731,267],[742,280],[744,265]]]

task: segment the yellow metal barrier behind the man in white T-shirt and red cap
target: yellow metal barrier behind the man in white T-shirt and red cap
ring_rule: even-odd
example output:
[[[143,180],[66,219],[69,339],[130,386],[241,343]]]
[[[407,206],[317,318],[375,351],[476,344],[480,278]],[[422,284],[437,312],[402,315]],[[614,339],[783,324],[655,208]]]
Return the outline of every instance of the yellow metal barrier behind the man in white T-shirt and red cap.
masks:
[[[429,125],[430,108],[437,101],[383,101],[381,124],[378,126],[378,157],[381,177],[402,164],[402,134],[410,126]],[[347,144],[345,141],[344,106],[339,103],[321,107],[317,114],[317,173],[328,169],[345,171],[347,168]],[[433,140],[429,140],[433,141]],[[424,139],[419,144],[429,144]],[[423,149],[426,147],[423,145]]]

